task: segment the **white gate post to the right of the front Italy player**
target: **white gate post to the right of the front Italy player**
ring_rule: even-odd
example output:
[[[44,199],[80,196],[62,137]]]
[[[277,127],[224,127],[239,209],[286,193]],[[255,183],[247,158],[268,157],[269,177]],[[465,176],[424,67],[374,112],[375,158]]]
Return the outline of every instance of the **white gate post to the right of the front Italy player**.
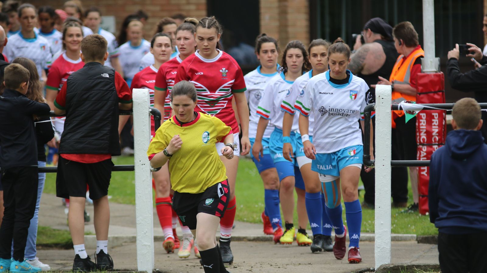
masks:
[[[375,269],[391,263],[391,85],[375,87]]]

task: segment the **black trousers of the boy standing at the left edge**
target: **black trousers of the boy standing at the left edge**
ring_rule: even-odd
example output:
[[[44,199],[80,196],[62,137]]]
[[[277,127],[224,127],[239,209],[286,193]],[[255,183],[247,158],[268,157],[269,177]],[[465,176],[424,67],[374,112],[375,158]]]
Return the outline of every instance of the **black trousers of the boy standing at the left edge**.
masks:
[[[10,259],[12,239],[14,256],[24,260],[25,244],[37,201],[37,166],[14,167],[3,172],[3,220],[0,227],[0,258]]]

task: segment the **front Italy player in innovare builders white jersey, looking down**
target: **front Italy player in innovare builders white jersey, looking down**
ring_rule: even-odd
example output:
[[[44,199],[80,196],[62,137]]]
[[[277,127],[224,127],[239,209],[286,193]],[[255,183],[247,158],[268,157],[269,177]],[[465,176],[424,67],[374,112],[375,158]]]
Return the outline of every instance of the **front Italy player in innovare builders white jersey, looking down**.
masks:
[[[357,121],[361,119],[361,113],[367,105],[365,93],[369,88],[363,79],[347,70],[350,53],[348,45],[338,38],[328,48],[330,70],[309,80],[295,108],[301,113],[299,124],[304,153],[313,160],[311,170],[319,173],[324,189],[325,209],[335,228],[333,253],[337,259],[343,259],[347,252],[347,227],[343,225],[340,203],[343,196],[350,237],[348,261],[359,263],[362,260],[358,246],[362,208],[357,188],[362,168],[363,143]],[[315,115],[313,143],[308,135],[308,116],[311,112]],[[363,120],[361,123],[364,128]],[[371,169],[366,168],[365,171]]]

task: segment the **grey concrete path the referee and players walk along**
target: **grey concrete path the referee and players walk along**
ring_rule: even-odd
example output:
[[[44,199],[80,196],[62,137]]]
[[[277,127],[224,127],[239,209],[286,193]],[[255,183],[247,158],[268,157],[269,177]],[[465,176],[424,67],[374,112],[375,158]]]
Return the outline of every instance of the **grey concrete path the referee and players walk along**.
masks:
[[[51,194],[43,194],[39,212],[39,225],[56,229],[68,229],[67,215],[61,199]],[[110,204],[110,255],[119,270],[136,270],[135,248],[135,207],[133,205]],[[93,216],[93,206],[87,206]],[[199,259],[194,255],[187,259],[177,254],[166,254],[162,249],[163,234],[154,209],[155,268],[168,273],[202,273]],[[93,217],[92,217],[93,219]],[[85,225],[85,231],[94,233],[93,221]],[[178,234],[181,231],[178,227]],[[374,263],[374,235],[362,234],[360,253],[363,262],[349,264],[337,260],[332,253],[312,254],[309,247],[275,245],[272,237],[263,235],[262,224],[236,222],[232,233],[234,264],[229,271],[235,272],[356,272],[372,268]],[[85,236],[85,245],[93,258],[95,238]],[[73,250],[39,249],[39,259],[51,265],[53,270],[70,270],[73,266]],[[437,264],[436,245],[418,244],[415,235],[394,235],[392,243],[393,264]]]

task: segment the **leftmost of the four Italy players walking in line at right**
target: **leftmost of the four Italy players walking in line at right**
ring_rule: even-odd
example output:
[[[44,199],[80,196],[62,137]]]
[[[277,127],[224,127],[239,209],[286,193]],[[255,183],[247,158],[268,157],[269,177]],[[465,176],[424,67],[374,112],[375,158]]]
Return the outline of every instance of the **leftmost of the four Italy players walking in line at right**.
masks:
[[[248,134],[251,145],[255,142],[257,123],[259,123],[260,118],[257,115],[257,106],[259,106],[259,102],[262,100],[265,85],[267,85],[267,82],[272,77],[278,74],[277,69],[279,65],[277,58],[279,56],[279,47],[277,40],[267,36],[265,33],[260,34],[255,40],[255,54],[261,65],[244,76],[245,85],[247,86],[245,97],[247,98],[248,108],[250,109]],[[271,124],[265,128],[264,135],[262,136],[264,154],[259,158],[260,161],[257,161],[250,154],[264,182],[264,203],[269,204],[266,207],[271,205],[277,205],[279,207],[279,176],[269,151],[269,137],[273,130],[274,126]],[[280,227],[278,226],[279,222],[271,223],[267,209],[264,209],[262,212],[261,219],[264,223],[264,233],[267,235],[273,235],[274,231]]]

